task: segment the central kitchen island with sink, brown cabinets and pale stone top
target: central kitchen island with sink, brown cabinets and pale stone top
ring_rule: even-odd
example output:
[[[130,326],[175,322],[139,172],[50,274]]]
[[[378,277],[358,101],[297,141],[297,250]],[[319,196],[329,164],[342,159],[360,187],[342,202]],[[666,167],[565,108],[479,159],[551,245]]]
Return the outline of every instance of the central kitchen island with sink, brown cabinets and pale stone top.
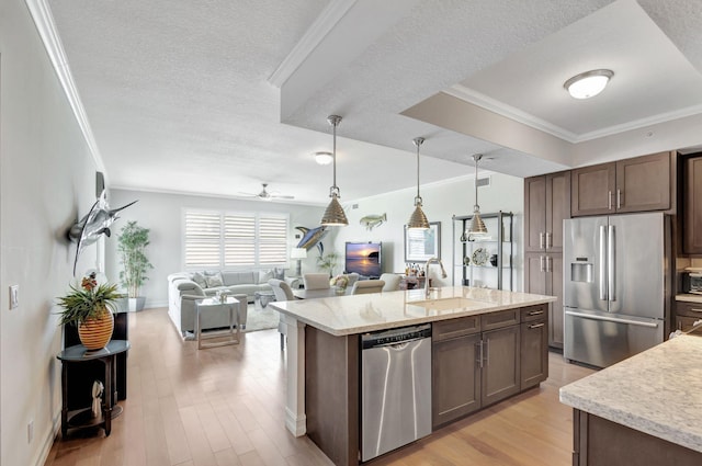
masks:
[[[287,330],[286,428],[308,434],[335,464],[358,464],[360,336],[420,323],[432,323],[434,429],[537,386],[547,376],[553,300],[448,286],[429,298],[409,289],[271,303]]]

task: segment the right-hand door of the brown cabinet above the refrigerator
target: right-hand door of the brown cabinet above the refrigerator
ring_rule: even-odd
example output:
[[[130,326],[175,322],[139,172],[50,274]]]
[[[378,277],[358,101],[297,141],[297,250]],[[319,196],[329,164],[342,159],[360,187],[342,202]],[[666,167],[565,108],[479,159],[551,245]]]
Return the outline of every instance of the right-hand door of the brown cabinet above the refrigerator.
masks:
[[[616,162],[616,212],[670,208],[670,152]]]

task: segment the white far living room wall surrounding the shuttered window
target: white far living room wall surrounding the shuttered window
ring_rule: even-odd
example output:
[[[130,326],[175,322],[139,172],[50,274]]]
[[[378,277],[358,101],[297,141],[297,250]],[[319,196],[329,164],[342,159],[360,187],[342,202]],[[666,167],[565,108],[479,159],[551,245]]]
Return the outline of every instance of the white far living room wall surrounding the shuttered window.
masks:
[[[290,247],[297,245],[302,235],[294,227],[316,227],[324,212],[322,207],[297,206],[263,201],[240,201],[224,197],[205,197],[180,194],[149,193],[143,191],[110,190],[110,207],[116,208],[138,200],[136,204],[122,211],[120,219],[112,226],[112,237],[105,241],[105,273],[107,279],[117,283],[122,265],[116,252],[117,237],[127,221],[136,220],[138,225],[150,230],[150,245],[147,249],[149,261],[154,265],[147,274],[148,279],[141,288],[146,296],[146,307],[163,307],[168,305],[168,286],[166,277],[183,270],[182,216],[185,208],[203,208],[213,211],[239,212],[275,212],[290,215]],[[325,240],[327,242],[327,240]],[[314,266],[314,258],[308,258],[304,270]],[[286,275],[293,275],[296,262],[291,260]]]

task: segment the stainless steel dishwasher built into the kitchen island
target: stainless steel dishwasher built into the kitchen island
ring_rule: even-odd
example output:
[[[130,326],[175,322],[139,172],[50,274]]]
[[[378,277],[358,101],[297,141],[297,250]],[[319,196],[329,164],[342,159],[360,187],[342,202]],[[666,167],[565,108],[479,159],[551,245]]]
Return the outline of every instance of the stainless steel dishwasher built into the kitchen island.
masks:
[[[431,325],[361,336],[361,461],[431,433]]]

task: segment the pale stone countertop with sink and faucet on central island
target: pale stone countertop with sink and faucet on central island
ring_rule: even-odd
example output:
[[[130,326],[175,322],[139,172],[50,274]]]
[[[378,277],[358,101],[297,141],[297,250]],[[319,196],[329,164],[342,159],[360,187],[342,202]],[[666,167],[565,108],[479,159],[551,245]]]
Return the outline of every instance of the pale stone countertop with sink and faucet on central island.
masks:
[[[269,306],[336,337],[494,312],[556,300],[553,296],[468,286],[273,302]],[[420,305],[422,302],[429,304]]]

